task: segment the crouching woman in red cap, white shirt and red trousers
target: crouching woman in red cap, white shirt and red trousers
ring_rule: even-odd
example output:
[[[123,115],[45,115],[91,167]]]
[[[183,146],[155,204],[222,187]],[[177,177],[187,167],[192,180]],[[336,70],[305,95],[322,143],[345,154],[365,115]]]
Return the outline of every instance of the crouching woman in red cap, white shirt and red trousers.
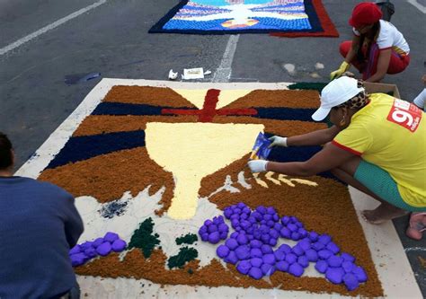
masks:
[[[343,41],[340,52],[345,60],[331,79],[343,75],[355,66],[362,80],[380,82],[386,74],[398,74],[410,63],[410,47],[396,27],[380,20],[377,4],[363,2],[355,6],[351,19],[352,40]]]

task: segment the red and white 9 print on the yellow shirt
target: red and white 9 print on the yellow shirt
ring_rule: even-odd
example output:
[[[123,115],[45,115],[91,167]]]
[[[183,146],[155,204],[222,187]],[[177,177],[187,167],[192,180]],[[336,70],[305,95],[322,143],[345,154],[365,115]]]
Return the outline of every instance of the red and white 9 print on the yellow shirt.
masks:
[[[422,119],[422,110],[408,101],[395,99],[387,120],[409,129],[411,132],[419,127]]]

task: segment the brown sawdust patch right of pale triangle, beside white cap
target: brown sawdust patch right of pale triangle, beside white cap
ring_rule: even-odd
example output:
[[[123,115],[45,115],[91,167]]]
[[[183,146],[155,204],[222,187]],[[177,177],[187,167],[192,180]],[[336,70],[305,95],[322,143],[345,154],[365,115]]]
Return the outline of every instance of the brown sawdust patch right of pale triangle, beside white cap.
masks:
[[[318,108],[319,105],[320,100],[317,91],[255,90],[239,98],[237,101],[233,101],[224,108]]]

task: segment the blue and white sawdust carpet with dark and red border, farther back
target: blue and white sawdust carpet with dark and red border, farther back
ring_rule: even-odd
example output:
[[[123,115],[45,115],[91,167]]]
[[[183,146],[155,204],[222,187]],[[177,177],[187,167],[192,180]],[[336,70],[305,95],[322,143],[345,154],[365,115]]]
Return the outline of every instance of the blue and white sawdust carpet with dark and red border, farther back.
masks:
[[[183,0],[149,32],[339,36],[321,0]]]

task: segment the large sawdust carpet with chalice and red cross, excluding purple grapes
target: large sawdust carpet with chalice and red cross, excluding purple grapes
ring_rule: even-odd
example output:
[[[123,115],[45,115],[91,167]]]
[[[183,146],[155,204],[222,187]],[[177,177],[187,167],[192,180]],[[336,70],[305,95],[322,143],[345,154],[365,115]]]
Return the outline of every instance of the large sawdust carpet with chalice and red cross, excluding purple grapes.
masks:
[[[85,226],[80,242],[93,244],[114,232],[129,244],[120,253],[100,251],[104,257],[90,259],[76,273],[145,278],[161,285],[383,295],[346,185],[328,172],[293,178],[253,175],[246,167],[259,132],[294,136],[327,127],[310,118],[319,105],[317,90],[291,90],[309,87],[303,84],[271,90],[224,86],[231,88],[115,85],[99,89],[104,93],[92,96],[98,99],[92,108],[75,113],[80,120],[72,136],[40,169],[39,179],[75,196]],[[269,158],[304,161],[320,148],[273,148]],[[250,209],[273,207],[278,215],[296,216],[306,231],[330,234],[342,251],[357,258],[368,281],[350,292],[315,275],[313,266],[302,277],[280,270],[268,280],[241,274],[217,258],[217,246],[197,241],[206,219],[239,202]],[[284,239],[280,242],[291,242]]]

